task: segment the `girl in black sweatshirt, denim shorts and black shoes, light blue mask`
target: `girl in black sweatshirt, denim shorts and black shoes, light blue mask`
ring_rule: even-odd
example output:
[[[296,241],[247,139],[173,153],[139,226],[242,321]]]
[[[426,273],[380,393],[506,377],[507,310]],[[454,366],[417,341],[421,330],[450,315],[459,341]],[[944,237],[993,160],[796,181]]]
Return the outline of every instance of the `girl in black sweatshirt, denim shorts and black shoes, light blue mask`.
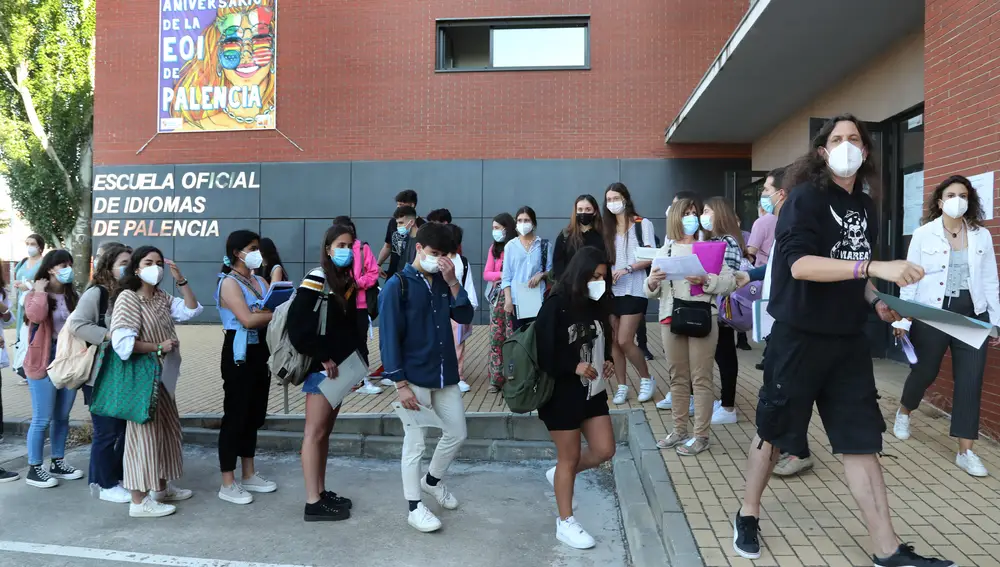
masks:
[[[302,439],[302,474],[306,485],[304,519],[330,522],[351,517],[350,499],[326,490],[326,463],[330,433],[340,406],[330,407],[319,386],[337,379],[337,366],[354,354],[364,337],[359,334],[357,283],[352,275],[354,233],[335,224],[323,236],[320,266],[299,285],[288,308],[284,330],[309,367],[302,392],[306,394],[306,425]],[[325,318],[324,318],[325,317]],[[385,332],[383,327],[383,332]]]

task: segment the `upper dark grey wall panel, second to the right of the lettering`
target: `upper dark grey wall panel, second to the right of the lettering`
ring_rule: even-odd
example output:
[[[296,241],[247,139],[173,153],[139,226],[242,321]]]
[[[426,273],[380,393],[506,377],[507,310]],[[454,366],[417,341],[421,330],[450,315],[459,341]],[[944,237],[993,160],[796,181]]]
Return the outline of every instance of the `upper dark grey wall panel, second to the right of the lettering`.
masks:
[[[396,194],[417,192],[418,211],[445,208],[453,217],[482,213],[481,161],[356,161],[351,170],[353,214],[389,218]]]

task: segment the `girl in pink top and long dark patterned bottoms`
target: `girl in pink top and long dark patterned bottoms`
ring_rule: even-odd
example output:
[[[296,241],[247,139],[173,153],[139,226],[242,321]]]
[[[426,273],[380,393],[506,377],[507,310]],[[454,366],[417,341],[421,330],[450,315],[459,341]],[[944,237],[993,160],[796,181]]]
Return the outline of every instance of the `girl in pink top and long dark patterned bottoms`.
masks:
[[[507,243],[517,237],[514,217],[500,213],[493,217],[493,243],[486,253],[483,281],[486,282],[486,300],[490,306],[490,353],[487,373],[490,393],[500,391],[504,383],[503,343],[514,334],[514,317],[504,309],[504,294],[500,290],[503,278],[503,251]]]

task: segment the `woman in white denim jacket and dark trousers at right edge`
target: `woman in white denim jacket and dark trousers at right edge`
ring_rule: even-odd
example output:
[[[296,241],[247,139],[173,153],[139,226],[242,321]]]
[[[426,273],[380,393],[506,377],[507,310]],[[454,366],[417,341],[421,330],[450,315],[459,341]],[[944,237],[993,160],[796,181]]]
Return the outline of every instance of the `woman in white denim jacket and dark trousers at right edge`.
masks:
[[[961,175],[945,179],[931,194],[924,224],[914,231],[906,254],[908,261],[924,268],[924,279],[902,288],[899,296],[994,326],[1000,324],[1000,284],[993,246],[993,237],[983,227],[983,211],[972,183]],[[905,341],[909,333],[917,362],[910,365],[893,433],[899,439],[909,439],[910,413],[937,378],[944,353],[950,348],[954,376],[951,436],[958,438],[955,464],[972,476],[986,476],[986,467],[972,451],[973,441],[979,437],[986,343],[973,348],[920,321],[904,320],[894,326],[897,338]],[[1000,339],[990,342],[1000,345]]]

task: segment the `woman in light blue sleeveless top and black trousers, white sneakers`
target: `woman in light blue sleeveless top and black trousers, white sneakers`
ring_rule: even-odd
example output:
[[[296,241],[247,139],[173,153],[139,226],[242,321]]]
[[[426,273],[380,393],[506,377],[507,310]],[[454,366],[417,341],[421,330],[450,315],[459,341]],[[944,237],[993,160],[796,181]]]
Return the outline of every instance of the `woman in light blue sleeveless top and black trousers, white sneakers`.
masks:
[[[253,274],[263,266],[260,236],[237,230],[226,239],[222,273],[215,292],[225,339],[222,341],[223,414],[219,428],[219,499],[233,504],[253,502],[252,492],[269,493],[278,485],[262,477],[254,467],[257,430],[267,417],[271,374],[264,334],[271,313],[261,310],[269,285]],[[241,479],[236,480],[236,458]]]

